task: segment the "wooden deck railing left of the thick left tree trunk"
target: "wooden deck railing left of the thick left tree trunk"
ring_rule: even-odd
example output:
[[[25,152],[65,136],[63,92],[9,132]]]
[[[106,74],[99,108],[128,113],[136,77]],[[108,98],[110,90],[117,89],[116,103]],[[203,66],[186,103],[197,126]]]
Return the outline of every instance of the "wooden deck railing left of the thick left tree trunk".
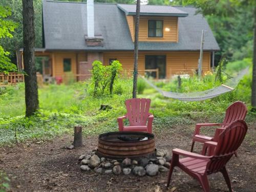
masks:
[[[0,85],[5,84],[16,84],[18,82],[24,81],[24,75],[18,73],[9,73],[6,75],[5,73],[0,73]]]

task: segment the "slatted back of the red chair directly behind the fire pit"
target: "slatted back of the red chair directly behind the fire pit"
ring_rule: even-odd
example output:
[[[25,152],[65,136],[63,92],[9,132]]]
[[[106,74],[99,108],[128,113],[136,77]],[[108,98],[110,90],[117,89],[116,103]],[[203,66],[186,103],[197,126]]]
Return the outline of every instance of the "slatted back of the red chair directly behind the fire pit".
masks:
[[[128,99],[125,101],[127,118],[131,126],[146,125],[148,113],[150,111],[150,99]]]

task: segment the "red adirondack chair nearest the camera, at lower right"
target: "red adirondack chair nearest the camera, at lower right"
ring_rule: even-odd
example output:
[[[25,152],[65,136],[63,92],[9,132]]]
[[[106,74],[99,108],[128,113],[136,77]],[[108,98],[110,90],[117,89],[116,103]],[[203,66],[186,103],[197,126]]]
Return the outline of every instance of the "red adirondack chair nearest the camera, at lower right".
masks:
[[[217,145],[215,145],[216,142],[213,141],[204,143],[204,148],[215,146],[215,151],[212,156],[199,155],[175,148],[173,150],[173,157],[167,178],[167,187],[170,184],[170,178],[172,177],[174,167],[178,166],[188,175],[197,179],[206,192],[210,191],[207,175],[221,172],[225,178],[229,191],[232,191],[226,170],[226,163],[238,150],[238,147],[244,140],[246,132],[247,125],[243,120],[237,120],[231,123],[220,134]],[[179,159],[180,155],[185,156],[185,158]]]

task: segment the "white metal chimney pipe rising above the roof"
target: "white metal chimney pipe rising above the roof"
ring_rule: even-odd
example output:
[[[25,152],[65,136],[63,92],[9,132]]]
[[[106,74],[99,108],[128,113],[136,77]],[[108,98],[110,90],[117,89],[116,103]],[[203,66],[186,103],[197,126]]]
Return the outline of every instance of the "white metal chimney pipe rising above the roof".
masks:
[[[94,37],[94,0],[87,0],[87,33]]]

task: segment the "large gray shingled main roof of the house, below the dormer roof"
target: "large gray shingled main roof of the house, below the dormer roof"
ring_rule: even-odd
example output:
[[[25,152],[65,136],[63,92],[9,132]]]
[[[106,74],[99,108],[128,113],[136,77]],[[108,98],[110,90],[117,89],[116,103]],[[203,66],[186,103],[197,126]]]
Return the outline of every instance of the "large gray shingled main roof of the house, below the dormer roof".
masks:
[[[166,6],[167,7],[167,6]],[[116,4],[95,4],[95,35],[104,38],[102,47],[88,47],[86,3],[44,0],[42,3],[46,50],[133,50],[134,43],[124,11]],[[206,30],[204,50],[219,50],[214,35],[194,7],[176,7],[188,13],[179,18],[179,42],[139,42],[144,51],[200,50],[202,29]]]

